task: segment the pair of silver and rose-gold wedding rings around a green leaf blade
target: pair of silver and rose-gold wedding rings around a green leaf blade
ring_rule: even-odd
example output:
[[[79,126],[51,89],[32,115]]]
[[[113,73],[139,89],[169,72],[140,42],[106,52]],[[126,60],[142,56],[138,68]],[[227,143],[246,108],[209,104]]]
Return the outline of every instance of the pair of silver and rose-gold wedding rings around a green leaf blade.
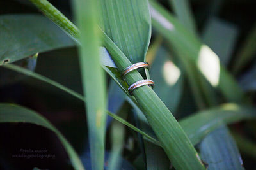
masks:
[[[122,77],[124,78],[125,75],[127,75],[131,71],[134,71],[134,70],[139,69],[141,67],[145,67],[147,69],[150,68],[150,66],[147,62],[138,62],[138,63],[132,64],[131,66],[126,67],[124,69],[124,71],[122,72]],[[137,89],[138,87],[144,86],[144,85],[150,85],[153,88],[154,87],[154,81],[146,79],[146,80],[140,80],[140,81],[137,81],[136,83],[133,83],[128,88],[129,94],[132,95],[133,90]]]

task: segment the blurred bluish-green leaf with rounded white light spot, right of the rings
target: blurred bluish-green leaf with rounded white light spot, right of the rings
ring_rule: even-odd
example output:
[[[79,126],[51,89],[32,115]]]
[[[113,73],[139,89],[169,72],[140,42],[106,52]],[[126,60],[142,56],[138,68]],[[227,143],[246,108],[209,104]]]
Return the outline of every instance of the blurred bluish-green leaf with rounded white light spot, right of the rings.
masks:
[[[150,78],[156,83],[156,94],[175,113],[182,96],[184,76],[170,58],[163,47],[159,48],[150,69]]]

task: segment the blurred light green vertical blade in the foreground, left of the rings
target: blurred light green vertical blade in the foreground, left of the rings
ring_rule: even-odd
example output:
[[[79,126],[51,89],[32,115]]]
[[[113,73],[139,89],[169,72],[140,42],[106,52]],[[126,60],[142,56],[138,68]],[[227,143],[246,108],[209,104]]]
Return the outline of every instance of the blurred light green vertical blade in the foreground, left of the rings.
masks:
[[[93,170],[104,168],[106,128],[106,80],[100,67],[97,3],[74,1],[77,24],[81,29],[79,63],[86,101],[86,117]],[[85,99],[84,99],[85,101]]]

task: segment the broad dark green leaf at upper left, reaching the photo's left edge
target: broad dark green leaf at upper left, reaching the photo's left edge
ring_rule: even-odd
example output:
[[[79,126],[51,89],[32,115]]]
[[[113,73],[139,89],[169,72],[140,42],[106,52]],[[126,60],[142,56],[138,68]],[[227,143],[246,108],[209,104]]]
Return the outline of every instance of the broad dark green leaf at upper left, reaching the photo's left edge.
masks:
[[[40,15],[0,16],[0,65],[75,43],[50,20]]]

